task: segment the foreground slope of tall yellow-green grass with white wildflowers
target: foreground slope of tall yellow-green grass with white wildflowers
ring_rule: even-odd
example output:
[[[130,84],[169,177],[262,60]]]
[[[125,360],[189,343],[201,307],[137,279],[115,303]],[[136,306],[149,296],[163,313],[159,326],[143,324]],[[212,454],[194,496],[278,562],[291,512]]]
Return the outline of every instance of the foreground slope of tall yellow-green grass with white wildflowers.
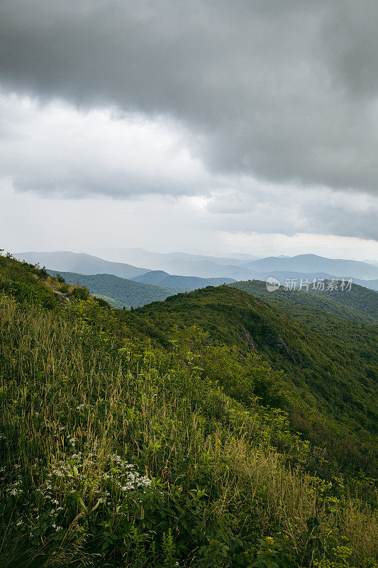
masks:
[[[344,542],[356,566],[377,555],[372,503],[290,466],[261,415],[80,306],[0,298],[2,566],[306,567]]]

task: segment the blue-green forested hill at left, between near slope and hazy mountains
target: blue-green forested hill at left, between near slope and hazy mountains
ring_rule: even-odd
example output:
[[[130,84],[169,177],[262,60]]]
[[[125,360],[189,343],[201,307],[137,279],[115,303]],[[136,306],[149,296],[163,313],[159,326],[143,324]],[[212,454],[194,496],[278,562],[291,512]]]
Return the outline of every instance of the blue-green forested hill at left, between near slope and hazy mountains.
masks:
[[[48,271],[48,273],[54,275],[55,272]],[[130,310],[131,306],[138,307],[150,302],[165,300],[166,297],[176,293],[176,290],[170,288],[143,284],[112,274],[87,275],[73,272],[60,272],[59,274],[66,282],[73,285],[79,283],[88,288],[91,294],[104,298],[110,305],[120,309],[125,306],[127,310]]]

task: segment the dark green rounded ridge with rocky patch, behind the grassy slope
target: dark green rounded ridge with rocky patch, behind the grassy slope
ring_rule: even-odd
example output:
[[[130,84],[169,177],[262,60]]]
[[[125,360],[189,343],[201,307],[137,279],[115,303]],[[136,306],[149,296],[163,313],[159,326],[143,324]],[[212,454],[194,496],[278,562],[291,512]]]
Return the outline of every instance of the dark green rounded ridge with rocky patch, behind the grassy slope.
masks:
[[[325,312],[320,315],[327,317]],[[318,311],[312,316],[316,318]],[[128,317],[129,325],[140,327],[142,322],[146,334],[155,334],[162,344],[175,325],[183,328],[195,324],[213,339],[234,346],[242,356],[260,354],[286,373],[283,388],[297,430],[341,452],[346,461],[352,454],[357,463],[371,461],[372,454],[376,459],[376,325],[348,322],[350,332],[345,334],[347,322],[330,317],[325,335],[277,307],[228,286],[170,297]],[[364,442],[367,447],[361,451]]]

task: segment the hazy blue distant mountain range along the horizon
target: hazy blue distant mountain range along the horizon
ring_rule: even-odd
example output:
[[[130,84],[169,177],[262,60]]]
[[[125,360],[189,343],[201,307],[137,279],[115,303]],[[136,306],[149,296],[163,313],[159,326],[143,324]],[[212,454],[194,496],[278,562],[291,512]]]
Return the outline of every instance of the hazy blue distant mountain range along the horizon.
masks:
[[[155,257],[158,256],[157,253],[143,252],[147,256],[150,254]],[[179,256],[179,258],[171,258],[169,261],[163,260],[164,266],[160,266],[160,271],[168,275],[179,275],[187,278],[218,278],[218,283],[214,281],[214,285],[224,281],[227,283],[237,280],[265,280],[268,276],[278,278],[282,284],[287,278],[296,279],[298,283],[301,278],[304,280],[306,278],[353,278],[355,283],[365,288],[378,290],[378,266],[358,261],[333,260],[332,258],[316,255],[298,255],[288,258],[274,256],[260,258],[256,261],[198,256],[200,260],[196,260],[197,257],[195,255],[172,253],[170,256],[173,257],[174,254]],[[106,261],[103,258],[91,256],[87,253],[72,253],[69,251],[26,252],[16,253],[14,256],[18,259],[25,259],[30,263],[40,263],[41,266],[46,266],[50,270],[79,274],[113,274],[121,278],[130,279],[146,273],[156,272],[152,270],[151,266],[141,268],[131,264]],[[165,254],[161,256],[163,259],[169,257],[169,255]],[[190,260],[186,260],[187,257]],[[221,263],[218,263],[218,261],[221,261]],[[225,263],[228,261],[235,261],[238,265]],[[313,270],[310,270],[311,267],[313,267]],[[294,270],[294,268],[301,268],[301,270]],[[171,282],[172,279],[170,279],[169,284],[165,282],[157,285],[168,285],[169,288],[178,285],[174,285]],[[150,283],[156,284],[156,281],[151,281]],[[210,282],[199,284],[196,285],[196,288],[209,284]],[[194,289],[191,284],[187,283],[179,285],[179,288],[182,287],[187,290]]]

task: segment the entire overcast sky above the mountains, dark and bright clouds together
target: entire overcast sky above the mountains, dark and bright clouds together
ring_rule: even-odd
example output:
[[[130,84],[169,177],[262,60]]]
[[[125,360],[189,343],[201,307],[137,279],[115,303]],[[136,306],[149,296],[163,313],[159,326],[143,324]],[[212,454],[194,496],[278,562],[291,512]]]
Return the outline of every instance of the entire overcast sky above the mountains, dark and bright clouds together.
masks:
[[[376,0],[1,0],[0,248],[378,258]]]

